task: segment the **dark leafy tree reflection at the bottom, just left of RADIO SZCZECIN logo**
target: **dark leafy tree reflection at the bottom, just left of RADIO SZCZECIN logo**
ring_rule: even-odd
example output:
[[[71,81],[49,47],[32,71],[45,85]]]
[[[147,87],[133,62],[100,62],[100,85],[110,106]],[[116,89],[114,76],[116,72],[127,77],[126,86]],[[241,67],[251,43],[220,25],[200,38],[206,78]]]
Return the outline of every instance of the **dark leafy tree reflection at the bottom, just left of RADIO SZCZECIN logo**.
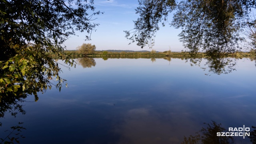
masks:
[[[231,136],[217,136],[217,132],[225,132],[226,129],[221,127],[221,124],[204,123],[207,127],[196,132],[195,136],[190,135],[188,138],[184,136],[181,144],[234,144],[234,139]]]

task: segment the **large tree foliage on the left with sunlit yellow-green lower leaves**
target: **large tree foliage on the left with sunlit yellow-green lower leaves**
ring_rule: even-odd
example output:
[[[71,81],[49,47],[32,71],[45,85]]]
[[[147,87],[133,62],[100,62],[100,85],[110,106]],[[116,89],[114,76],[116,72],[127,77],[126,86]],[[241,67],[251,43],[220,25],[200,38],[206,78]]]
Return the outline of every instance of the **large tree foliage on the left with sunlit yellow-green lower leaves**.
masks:
[[[60,78],[58,62],[72,66],[74,60],[64,54],[63,42],[75,31],[87,32],[92,23],[93,0],[0,0],[0,117],[18,109],[28,94],[44,92],[65,81]],[[55,77],[55,78],[54,78]],[[54,80],[57,82],[54,82]],[[15,114],[15,113],[13,113]]]

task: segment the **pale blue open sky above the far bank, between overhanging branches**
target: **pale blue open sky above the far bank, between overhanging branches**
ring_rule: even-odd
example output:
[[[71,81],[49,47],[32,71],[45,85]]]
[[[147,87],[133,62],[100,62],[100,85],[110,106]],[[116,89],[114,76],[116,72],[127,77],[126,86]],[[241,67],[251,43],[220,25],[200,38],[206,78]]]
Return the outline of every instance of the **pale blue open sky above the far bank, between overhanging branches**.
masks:
[[[129,40],[125,38],[124,30],[132,30],[134,28],[133,20],[137,20],[138,14],[135,14],[135,8],[138,6],[138,0],[94,0],[96,11],[104,12],[104,14],[96,15],[94,23],[100,24],[96,27],[96,31],[92,32],[90,41],[84,41],[86,32],[76,32],[78,36],[71,36],[64,43],[67,50],[75,50],[77,46],[83,43],[91,43],[96,46],[96,50],[152,50],[148,47],[141,49],[135,43],[129,44]],[[172,16],[169,16],[169,23]],[[160,27],[156,34],[154,50],[166,51],[169,46],[172,51],[178,52],[183,49],[182,43],[179,41],[178,34],[180,29],[171,28],[166,25]]]

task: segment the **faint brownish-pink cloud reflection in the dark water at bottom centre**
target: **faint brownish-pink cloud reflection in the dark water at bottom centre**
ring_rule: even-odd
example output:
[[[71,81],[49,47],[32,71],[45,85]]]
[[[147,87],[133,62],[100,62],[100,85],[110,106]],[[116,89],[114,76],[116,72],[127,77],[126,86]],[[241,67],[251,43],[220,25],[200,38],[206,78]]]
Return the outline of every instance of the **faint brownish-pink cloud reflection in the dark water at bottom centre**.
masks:
[[[128,110],[122,124],[115,126],[115,132],[120,134],[118,144],[180,144],[183,134],[191,132],[193,126],[186,131],[184,125],[190,123],[187,120],[182,120],[182,126],[166,118],[152,112],[152,108]]]

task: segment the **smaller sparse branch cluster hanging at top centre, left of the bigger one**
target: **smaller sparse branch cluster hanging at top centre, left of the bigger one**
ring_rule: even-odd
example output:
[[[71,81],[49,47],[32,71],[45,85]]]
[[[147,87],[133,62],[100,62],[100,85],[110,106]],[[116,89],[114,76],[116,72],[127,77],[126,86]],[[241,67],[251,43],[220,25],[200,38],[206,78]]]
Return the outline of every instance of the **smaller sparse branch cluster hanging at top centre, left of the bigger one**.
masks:
[[[154,37],[159,30],[158,23],[164,26],[168,20],[168,13],[175,8],[175,0],[138,0],[139,7],[136,14],[140,17],[134,21],[134,30],[124,31],[126,38],[143,48],[154,45]],[[132,35],[131,35],[132,34]]]

